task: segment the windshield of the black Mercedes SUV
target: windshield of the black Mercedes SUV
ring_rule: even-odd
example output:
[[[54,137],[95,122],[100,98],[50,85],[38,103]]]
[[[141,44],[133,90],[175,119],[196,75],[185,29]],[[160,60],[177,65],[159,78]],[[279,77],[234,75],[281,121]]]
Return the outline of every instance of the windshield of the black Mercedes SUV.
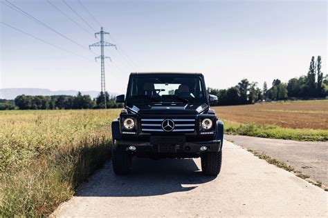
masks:
[[[201,77],[197,75],[138,75],[132,77],[128,96],[149,101],[206,101]],[[140,99],[139,99],[140,100]]]

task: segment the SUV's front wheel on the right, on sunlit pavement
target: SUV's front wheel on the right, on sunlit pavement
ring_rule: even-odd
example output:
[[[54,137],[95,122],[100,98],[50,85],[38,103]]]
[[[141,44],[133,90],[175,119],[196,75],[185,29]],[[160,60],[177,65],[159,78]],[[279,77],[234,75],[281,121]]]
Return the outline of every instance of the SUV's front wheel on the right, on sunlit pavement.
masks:
[[[221,170],[222,150],[201,155],[201,170],[205,175],[217,176]]]

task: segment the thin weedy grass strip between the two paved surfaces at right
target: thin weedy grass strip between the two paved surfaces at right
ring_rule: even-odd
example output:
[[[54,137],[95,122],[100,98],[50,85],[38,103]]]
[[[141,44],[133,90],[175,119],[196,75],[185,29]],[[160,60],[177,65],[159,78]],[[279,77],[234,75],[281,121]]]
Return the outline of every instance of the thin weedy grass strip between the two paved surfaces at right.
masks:
[[[298,170],[295,170],[292,166],[289,166],[288,164],[286,164],[282,161],[278,161],[275,158],[265,155],[264,152],[259,153],[255,150],[251,150],[251,149],[247,149],[247,151],[253,153],[253,155],[258,157],[259,159],[264,159],[266,162],[268,162],[268,164],[273,164],[273,165],[277,166],[278,168],[282,168],[289,172],[293,172],[297,177],[300,177],[301,179],[304,179],[304,180],[308,181],[309,183],[311,183],[315,186],[318,186],[318,187],[324,189],[325,191],[328,191],[328,187],[324,186],[321,181],[314,181],[313,179],[310,179],[309,175],[306,175]]]

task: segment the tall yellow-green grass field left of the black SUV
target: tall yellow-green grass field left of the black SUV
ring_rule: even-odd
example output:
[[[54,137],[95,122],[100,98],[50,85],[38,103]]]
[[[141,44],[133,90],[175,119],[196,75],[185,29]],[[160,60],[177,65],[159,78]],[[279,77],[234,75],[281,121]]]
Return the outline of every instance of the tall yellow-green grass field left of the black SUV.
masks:
[[[49,215],[110,156],[118,110],[0,112],[0,217]]]

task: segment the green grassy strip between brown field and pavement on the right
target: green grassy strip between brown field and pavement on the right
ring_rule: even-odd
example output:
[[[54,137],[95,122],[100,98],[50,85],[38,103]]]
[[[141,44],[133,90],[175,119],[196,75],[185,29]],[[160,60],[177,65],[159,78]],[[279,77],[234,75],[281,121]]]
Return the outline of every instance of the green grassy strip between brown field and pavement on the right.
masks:
[[[257,123],[232,123],[224,121],[224,132],[230,135],[246,135],[271,139],[296,141],[328,141],[328,130],[282,128]]]

